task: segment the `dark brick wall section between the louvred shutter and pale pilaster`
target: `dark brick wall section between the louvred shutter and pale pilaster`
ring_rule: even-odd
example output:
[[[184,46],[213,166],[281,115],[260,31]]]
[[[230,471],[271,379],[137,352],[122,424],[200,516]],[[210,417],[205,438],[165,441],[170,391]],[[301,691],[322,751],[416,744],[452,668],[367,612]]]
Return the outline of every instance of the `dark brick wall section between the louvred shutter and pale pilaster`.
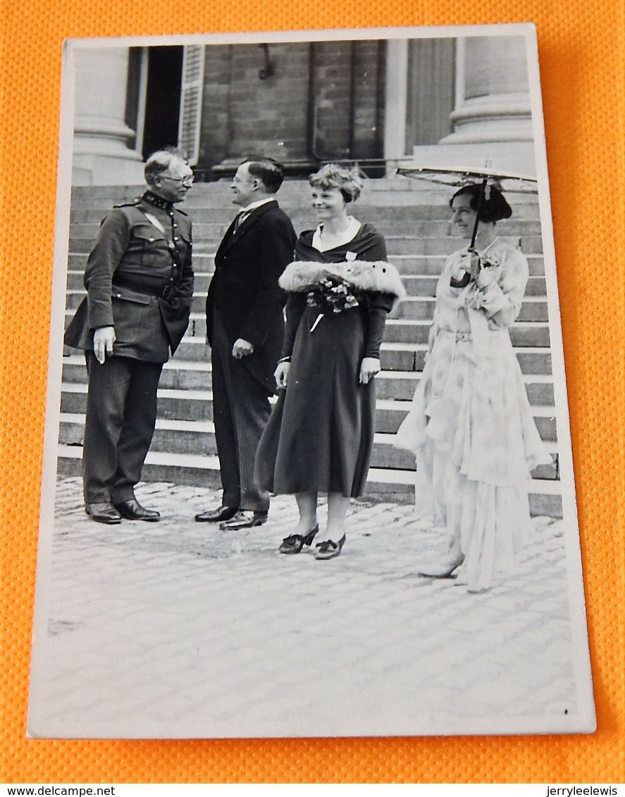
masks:
[[[384,42],[206,48],[200,164],[250,153],[285,163],[382,155]]]

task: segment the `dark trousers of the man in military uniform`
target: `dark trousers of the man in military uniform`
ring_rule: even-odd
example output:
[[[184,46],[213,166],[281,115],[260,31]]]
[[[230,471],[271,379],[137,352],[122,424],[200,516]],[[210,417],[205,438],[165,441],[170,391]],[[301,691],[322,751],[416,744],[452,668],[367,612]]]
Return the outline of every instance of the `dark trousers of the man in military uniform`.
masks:
[[[85,503],[130,501],[154,434],[163,363],[114,355],[100,364],[92,351],[86,359]]]

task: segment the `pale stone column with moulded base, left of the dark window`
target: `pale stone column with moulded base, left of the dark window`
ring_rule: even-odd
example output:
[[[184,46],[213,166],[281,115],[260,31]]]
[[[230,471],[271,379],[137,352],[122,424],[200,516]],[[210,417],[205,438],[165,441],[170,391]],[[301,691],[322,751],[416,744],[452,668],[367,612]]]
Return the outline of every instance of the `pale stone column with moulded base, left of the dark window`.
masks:
[[[128,48],[75,48],[74,185],[143,183],[143,163],[128,128]]]

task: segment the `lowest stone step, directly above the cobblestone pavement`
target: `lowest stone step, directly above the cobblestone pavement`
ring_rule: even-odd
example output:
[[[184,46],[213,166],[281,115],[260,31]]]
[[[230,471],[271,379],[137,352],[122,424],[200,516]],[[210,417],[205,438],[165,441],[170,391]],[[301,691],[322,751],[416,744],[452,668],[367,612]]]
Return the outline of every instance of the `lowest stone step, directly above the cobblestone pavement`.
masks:
[[[81,475],[81,446],[57,449],[57,472],[62,476]],[[179,485],[218,487],[219,463],[217,457],[180,455],[175,464],[163,452],[150,451],[143,466],[146,481],[171,481]],[[372,501],[415,501],[415,474],[411,470],[371,468],[368,474],[365,497]],[[529,508],[533,516],[562,517],[560,482],[549,479],[528,480]]]

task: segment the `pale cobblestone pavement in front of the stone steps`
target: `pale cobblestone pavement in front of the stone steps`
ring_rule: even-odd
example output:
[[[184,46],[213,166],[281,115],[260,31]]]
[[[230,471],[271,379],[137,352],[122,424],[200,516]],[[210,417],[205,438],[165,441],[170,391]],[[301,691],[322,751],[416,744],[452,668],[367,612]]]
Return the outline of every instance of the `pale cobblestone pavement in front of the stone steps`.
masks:
[[[33,736],[359,736],[567,728],[578,699],[563,523],[470,595],[416,563],[412,507],[353,501],[343,553],[281,556],[292,497],[260,528],[193,516],[211,489],[143,484],[158,524],[88,520],[57,485]],[[323,512],[322,512],[323,517]],[[37,599],[39,599],[37,595]]]

